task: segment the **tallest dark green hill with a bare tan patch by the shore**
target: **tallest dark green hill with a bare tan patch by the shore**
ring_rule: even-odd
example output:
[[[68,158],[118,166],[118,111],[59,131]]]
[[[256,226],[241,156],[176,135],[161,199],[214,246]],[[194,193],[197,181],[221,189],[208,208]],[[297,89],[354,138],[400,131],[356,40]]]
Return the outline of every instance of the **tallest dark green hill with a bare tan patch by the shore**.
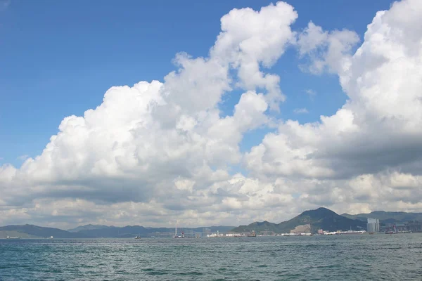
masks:
[[[238,226],[232,231],[238,233],[252,230],[256,233],[264,231],[272,231],[274,233],[290,233],[290,231],[295,233],[316,233],[319,229],[335,231],[349,230],[350,228],[353,230],[366,229],[366,222],[340,216],[326,208],[319,208],[304,211],[299,216],[282,223],[255,222],[248,226]]]

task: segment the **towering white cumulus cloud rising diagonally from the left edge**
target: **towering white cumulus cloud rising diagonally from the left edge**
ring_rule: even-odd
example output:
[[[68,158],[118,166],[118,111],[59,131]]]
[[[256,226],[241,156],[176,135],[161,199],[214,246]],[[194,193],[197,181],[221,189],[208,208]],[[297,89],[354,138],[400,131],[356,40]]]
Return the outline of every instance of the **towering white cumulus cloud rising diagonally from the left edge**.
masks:
[[[235,9],[222,18],[222,32],[207,58],[179,53],[178,70],[163,82],[113,87],[95,110],[63,119],[41,155],[20,169],[1,167],[3,220],[18,220],[15,211],[35,216],[41,204],[51,210],[42,216],[126,202],[178,217],[181,210],[199,212],[207,204],[216,204],[215,211],[226,208],[229,197],[210,188],[231,186],[229,171],[241,161],[243,134],[267,124],[265,112],[283,100],[279,77],[261,67],[274,64],[294,41],[295,18],[293,7],[283,2],[261,11]],[[234,88],[245,92],[233,115],[222,117],[219,103]]]

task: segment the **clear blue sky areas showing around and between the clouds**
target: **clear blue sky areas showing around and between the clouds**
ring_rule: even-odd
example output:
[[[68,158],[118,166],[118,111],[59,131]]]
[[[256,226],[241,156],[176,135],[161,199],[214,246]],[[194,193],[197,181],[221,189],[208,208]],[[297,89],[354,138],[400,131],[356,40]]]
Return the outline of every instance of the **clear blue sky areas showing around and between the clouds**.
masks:
[[[177,52],[206,56],[219,33],[219,19],[231,10],[259,9],[270,1],[11,1],[0,12],[0,160],[20,166],[21,155],[39,155],[58,124],[101,103],[115,85],[162,78],[174,70]],[[390,1],[289,1],[299,18],[326,30],[347,28],[363,38],[376,11]],[[287,96],[282,119],[312,122],[332,115],[345,94],[332,74],[298,69],[298,53],[288,49],[271,72],[281,76]],[[309,98],[307,89],[316,95]],[[240,93],[240,92],[239,92]],[[231,114],[238,96],[222,104]],[[293,113],[306,107],[309,114]],[[242,150],[260,142],[267,130],[245,136]]]

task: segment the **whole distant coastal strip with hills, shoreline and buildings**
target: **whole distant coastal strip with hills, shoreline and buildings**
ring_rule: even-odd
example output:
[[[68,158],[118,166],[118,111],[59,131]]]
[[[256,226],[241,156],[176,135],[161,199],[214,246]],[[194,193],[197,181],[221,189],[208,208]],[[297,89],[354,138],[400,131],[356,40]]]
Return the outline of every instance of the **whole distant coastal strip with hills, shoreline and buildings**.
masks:
[[[382,218],[371,218],[378,216]],[[210,226],[204,228],[151,228],[143,226],[78,226],[69,230],[42,228],[39,226],[0,227],[0,238],[214,238],[214,237],[262,237],[262,236],[313,236],[313,235],[373,235],[422,233],[418,221],[422,213],[374,211],[370,214],[338,215],[321,207],[305,211],[299,216],[281,223],[268,221],[250,223],[248,226]],[[409,221],[406,221],[411,219]],[[55,236],[54,236],[55,235]]]

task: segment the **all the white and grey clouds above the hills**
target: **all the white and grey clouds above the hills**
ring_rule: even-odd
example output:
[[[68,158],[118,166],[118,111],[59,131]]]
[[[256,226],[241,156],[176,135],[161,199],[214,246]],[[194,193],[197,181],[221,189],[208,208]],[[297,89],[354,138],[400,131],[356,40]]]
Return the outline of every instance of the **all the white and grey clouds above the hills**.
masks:
[[[41,155],[0,167],[0,224],[184,226],[281,221],[338,212],[422,211],[422,2],[380,11],[359,43],[279,2],[234,9],[206,58],[176,55],[163,81],[109,89],[83,117],[60,123]],[[337,74],[348,100],[300,124],[269,112],[285,100],[269,72],[296,48],[312,74]],[[282,86],[282,84],[281,84]],[[224,95],[243,89],[233,115]],[[274,126],[242,153],[243,136]],[[247,175],[232,173],[241,165]]]

